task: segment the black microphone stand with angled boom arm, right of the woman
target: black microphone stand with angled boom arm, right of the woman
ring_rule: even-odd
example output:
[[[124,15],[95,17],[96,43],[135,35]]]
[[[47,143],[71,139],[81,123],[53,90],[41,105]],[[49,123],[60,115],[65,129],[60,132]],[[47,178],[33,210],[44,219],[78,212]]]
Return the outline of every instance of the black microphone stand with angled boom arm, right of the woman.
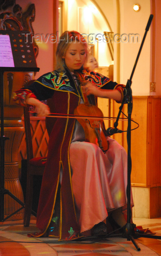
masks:
[[[135,234],[134,227],[136,225],[134,223],[131,223],[131,113],[132,113],[132,109],[133,109],[133,99],[132,99],[131,83],[132,83],[132,77],[133,77],[133,74],[134,74],[134,71],[135,71],[138,59],[139,59],[139,55],[141,53],[142,46],[143,46],[143,43],[145,41],[145,37],[146,37],[147,31],[149,30],[149,27],[150,27],[150,24],[152,22],[152,19],[153,19],[153,14],[150,15],[149,20],[147,22],[147,26],[146,26],[146,29],[145,29],[145,34],[144,34],[144,37],[142,39],[142,43],[141,43],[141,46],[140,46],[140,49],[139,49],[139,52],[138,52],[138,55],[137,55],[134,67],[133,67],[133,71],[131,73],[130,79],[127,80],[127,84],[126,84],[126,87],[125,87],[124,92],[123,92],[124,98],[123,98],[121,106],[119,107],[118,117],[116,118],[116,121],[114,123],[114,129],[111,132],[111,134],[121,132],[117,128],[118,120],[119,120],[119,117],[120,117],[120,113],[122,112],[123,105],[125,103],[127,103],[127,110],[128,110],[128,127],[127,127],[127,190],[126,190],[126,193],[127,193],[127,223],[125,225],[124,234],[126,235],[128,241],[131,240],[133,242],[133,244],[135,245],[137,251],[140,251],[141,249],[139,248],[137,242],[135,242],[135,240],[133,238],[133,235]],[[149,237],[149,236],[146,236],[146,237]],[[158,236],[157,236],[157,238],[158,238]]]

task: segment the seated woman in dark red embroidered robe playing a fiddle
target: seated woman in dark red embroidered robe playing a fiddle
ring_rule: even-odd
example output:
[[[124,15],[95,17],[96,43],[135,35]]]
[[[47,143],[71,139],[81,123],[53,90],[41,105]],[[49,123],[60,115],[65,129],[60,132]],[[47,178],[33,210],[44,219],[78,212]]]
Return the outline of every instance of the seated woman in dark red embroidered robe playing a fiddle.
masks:
[[[83,68],[87,43],[80,33],[66,31],[61,39],[55,70],[17,91],[15,100],[35,106],[38,116],[48,116],[50,109],[41,101],[52,98],[54,113],[66,114],[54,119],[37,212],[41,231],[31,236],[72,240],[87,231],[106,235],[110,214],[120,226],[126,224],[126,151],[93,117],[100,113],[96,98],[121,102],[124,86]],[[92,121],[85,117],[83,123],[84,108],[85,113],[90,109]],[[69,118],[74,113],[78,120]]]

